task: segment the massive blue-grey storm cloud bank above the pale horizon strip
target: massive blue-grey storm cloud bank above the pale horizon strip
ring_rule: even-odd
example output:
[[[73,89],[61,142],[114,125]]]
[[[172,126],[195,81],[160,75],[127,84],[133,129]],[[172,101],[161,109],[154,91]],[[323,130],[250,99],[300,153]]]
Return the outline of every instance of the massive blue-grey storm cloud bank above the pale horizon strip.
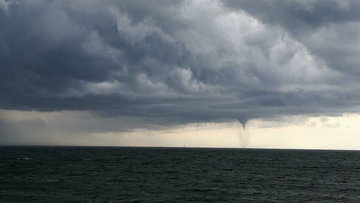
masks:
[[[165,126],[357,112],[356,1],[0,2],[1,109]]]

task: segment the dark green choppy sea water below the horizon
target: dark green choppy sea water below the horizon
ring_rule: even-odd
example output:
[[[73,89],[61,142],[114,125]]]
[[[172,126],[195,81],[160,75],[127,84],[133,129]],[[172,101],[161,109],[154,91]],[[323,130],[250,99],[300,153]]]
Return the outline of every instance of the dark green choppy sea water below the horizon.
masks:
[[[360,202],[360,151],[0,147],[0,202]]]

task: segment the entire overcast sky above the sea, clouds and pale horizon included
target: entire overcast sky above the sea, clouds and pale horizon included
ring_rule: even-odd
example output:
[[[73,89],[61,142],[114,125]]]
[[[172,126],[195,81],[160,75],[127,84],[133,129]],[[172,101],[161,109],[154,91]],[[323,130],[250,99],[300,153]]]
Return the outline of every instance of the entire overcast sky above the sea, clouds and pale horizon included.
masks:
[[[359,56],[358,0],[0,0],[0,144],[357,149]]]

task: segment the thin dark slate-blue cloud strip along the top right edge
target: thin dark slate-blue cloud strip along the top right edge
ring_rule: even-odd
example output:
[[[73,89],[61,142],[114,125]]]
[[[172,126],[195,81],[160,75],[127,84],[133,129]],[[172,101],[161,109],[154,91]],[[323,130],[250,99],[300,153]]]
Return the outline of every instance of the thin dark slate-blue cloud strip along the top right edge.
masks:
[[[360,19],[360,3],[356,0],[224,0],[231,9],[241,9],[264,23],[279,24],[301,34],[329,23],[347,23]]]

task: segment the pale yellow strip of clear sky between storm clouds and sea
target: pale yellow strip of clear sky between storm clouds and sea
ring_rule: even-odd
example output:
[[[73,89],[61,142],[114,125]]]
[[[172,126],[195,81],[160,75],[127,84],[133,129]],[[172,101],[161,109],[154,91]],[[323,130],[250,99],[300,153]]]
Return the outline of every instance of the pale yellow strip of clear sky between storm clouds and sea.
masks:
[[[17,112],[2,111],[10,121],[45,125],[22,125],[17,132],[26,139],[5,145],[51,146],[128,146],[128,147],[218,147],[218,148],[276,148],[276,149],[343,149],[359,150],[359,115],[341,117],[291,116],[292,121],[249,120],[243,130],[237,121],[230,123],[197,123],[172,129],[134,129],[131,132],[66,133],[62,129],[73,115],[80,112]],[[63,114],[68,115],[63,115]],[[84,113],[84,112],[82,112]],[[33,115],[35,114],[35,115]],[[33,116],[33,117],[32,117]],[[285,119],[285,118],[283,118]],[[289,117],[287,118],[289,119]],[[53,127],[44,128],[51,125]],[[55,128],[54,126],[58,126]],[[30,128],[30,129],[28,129]],[[80,126],[81,128],[81,126]],[[43,133],[45,130],[46,133]],[[31,132],[33,131],[33,132]],[[31,132],[31,133],[29,133]],[[55,139],[57,138],[57,139]],[[73,139],[77,138],[77,139]],[[44,142],[39,142],[43,140]]]

